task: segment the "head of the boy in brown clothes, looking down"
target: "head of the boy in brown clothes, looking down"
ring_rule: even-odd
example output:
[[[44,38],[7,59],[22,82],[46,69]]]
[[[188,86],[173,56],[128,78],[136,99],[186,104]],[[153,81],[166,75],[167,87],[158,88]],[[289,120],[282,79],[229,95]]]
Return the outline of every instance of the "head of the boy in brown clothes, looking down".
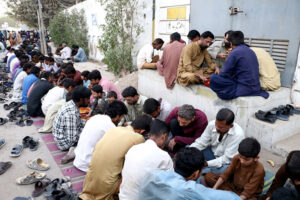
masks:
[[[239,144],[239,159],[242,166],[250,166],[259,159],[260,144],[254,138],[245,138]]]

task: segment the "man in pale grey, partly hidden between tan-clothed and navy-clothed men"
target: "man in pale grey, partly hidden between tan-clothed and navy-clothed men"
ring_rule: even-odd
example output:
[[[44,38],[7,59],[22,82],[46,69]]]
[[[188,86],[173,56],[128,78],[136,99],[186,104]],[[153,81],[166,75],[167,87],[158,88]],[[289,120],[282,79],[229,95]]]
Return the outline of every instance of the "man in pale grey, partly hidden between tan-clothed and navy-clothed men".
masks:
[[[224,35],[224,40],[215,41],[207,48],[207,51],[212,58],[213,62],[221,69],[225,64],[225,60],[231,50],[230,42],[228,41],[229,35],[232,31],[227,31]]]

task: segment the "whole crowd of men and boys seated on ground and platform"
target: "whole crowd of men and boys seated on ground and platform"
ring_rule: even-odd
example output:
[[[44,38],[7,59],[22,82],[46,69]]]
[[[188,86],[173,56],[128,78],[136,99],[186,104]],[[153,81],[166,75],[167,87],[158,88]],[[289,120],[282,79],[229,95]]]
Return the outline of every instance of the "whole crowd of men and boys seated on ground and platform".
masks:
[[[219,47],[232,48],[228,55],[217,53],[217,44],[210,46],[214,39],[210,32],[193,31],[189,36],[193,42],[185,45],[178,33],[172,34],[162,58],[153,61],[148,49],[163,45],[156,39],[141,50],[150,59],[143,63],[140,52],[140,67],[157,67],[166,75],[169,88],[176,80],[188,85],[210,78],[220,97],[264,92],[256,54],[242,42],[241,32],[225,34]],[[72,53],[66,43],[54,57],[27,51],[27,47],[23,42],[17,50],[8,48],[13,98],[27,105],[30,116],[45,117],[39,132],[52,133],[58,148],[68,151],[62,164],[74,160],[73,165],[87,173],[79,199],[277,200],[282,194],[298,198],[300,151],[289,154],[267,194],[261,195],[265,177],[259,162],[261,146],[245,137],[230,109],[219,110],[215,120],[208,122],[206,114],[192,105],[173,107],[165,99],[139,94],[132,86],[120,93],[99,70],[75,70],[71,62],[64,62],[65,55]],[[79,49],[73,46],[82,55]],[[75,57],[70,56],[76,61]],[[207,66],[202,69],[204,61]],[[171,65],[176,70],[169,69]],[[247,79],[242,81],[242,77]],[[224,87],[222,91],[234,86],[234,94],[218,93],[218,84]],[[80,113],[84,107],[90,107],[85,120]]]

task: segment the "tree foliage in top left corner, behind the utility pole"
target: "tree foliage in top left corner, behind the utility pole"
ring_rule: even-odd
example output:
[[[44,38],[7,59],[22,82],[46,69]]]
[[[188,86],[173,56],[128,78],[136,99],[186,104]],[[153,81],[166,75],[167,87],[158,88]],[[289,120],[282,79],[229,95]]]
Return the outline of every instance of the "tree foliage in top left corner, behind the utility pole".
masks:
[[[78,2],[84,0],[77,0]],[[62,9],[68,8],[76,3],[76,0],[41,0],[43,7],[43,19],[45,26],[48,27],[50,19]],[[30,27],[38,27],[37,20],[37,0],[6,0],[10,11],[7,13],[10,17],[22,21]]]

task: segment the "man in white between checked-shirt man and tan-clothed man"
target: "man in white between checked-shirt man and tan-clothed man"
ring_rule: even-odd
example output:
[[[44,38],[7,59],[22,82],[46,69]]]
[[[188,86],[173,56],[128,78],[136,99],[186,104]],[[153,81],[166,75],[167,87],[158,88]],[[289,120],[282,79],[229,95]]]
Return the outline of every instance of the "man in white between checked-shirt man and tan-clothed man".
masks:
[[[105,114],[97,114],[87,121],[75,148],[75,167],[84,172],[88,171],[94,147],[107,131],[118,125],[125,114],[125,104],[116,100],[108,105]]]

